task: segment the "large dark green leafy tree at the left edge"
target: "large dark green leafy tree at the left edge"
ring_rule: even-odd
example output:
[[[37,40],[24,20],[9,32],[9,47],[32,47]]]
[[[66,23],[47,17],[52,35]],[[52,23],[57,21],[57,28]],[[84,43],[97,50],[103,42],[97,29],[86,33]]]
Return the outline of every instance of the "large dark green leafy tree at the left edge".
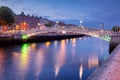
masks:
[[[15,22],[14,12],[6,6],[0,7],[0,26],[11,26]]]

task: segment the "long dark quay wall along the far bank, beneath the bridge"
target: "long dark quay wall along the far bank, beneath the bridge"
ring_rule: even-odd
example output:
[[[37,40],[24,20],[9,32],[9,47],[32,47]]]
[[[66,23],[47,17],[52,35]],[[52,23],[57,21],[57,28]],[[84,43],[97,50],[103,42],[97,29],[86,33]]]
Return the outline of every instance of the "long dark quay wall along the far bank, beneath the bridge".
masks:
[[[52,40],[69,39],[76,37],[83,37],[84,34],[70,34],[70,35],[36,35],[27,39],[22,39],[22,36],[15,37],[15,35],[0,37],[0,45],[12,45],[21,43],[44,42]]]

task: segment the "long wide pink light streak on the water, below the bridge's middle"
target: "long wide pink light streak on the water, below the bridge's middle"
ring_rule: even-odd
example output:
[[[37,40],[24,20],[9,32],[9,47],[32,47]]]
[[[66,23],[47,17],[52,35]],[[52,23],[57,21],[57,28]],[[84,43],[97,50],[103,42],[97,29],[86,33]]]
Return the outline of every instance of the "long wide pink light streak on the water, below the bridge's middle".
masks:
[[[65,40],[61,40],[60,50],[58,51],[55,57],[55,77],[57,77],[57,75],[59,74],[60,68],[65,62],[65,57],[66,57]]]

